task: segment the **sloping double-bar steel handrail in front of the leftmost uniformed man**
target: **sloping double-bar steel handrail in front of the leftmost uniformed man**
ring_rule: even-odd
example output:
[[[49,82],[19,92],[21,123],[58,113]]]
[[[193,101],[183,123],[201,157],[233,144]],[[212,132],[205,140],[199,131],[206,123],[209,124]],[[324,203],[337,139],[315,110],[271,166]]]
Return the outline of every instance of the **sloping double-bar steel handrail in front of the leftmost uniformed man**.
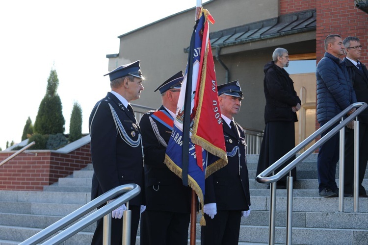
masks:
[[[81,231],[82,229],[84,229],[85,227],[91,225],[93,222],[111,213],[111,211],[115,210],[116,208],[121,206],[123,203],[126,203],[131,198],[137,196],[140,193],[140,190],[141,189],[137,184],[126,184],[126,185],[115,187],[111,189],[110,191],[106,192],[105,194],[86,203],[85,205],[83,205],[76,211],[70,213],[69,215],[65,216],[61,220],[56,221],[52,225],[46,227],[42,231],[28,238],[26,241],[20,243],[19,245],[36,245],[40,243],[41,241],[45,240],[46,238],[52,236],[53,234],[55,234],[56,232],[58,232],[65,226],[73,223],[74,221],[78,220],[79,218],[93,211],[97,207],[105,204],[107,201],[109,201],[113,197],[120,195],[122,193],[125,193],[122,196],[119,196],[118,198],[116,198],[114,201],[109,202],[102,208],[98,209],[97,211],[84,217],[82,220],[78,221],[77,223],[73,224],[72,226],[68,227],[62,232],[58,233],[51,239],[47,240],[44,244],[53,245],[53,244],[62,243],[68,238],[78,233],[79,231]]]

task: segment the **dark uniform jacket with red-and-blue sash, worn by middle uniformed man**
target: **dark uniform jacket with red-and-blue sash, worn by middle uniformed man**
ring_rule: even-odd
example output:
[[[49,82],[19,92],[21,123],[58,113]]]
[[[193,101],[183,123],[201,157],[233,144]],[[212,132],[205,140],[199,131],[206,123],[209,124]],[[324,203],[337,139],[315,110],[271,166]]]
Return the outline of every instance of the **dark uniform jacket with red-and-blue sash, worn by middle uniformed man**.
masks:
[[[165,107],[147,112],[140,120],[145,159],[146,209],[190,213],[191,189],[183,186],[182,179],[164,164],[165,151],[172,126],[162,123],[154,113],[166,113],[167,121],[173,118]]]

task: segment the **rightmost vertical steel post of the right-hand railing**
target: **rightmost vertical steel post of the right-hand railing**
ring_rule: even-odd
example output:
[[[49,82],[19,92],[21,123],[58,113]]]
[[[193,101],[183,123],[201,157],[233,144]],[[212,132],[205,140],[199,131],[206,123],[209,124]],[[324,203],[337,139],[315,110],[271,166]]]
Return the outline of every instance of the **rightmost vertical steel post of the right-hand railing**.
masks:
[[[359,212],[359,147],[359,121],[356,117],[354,122],[354,212]]]

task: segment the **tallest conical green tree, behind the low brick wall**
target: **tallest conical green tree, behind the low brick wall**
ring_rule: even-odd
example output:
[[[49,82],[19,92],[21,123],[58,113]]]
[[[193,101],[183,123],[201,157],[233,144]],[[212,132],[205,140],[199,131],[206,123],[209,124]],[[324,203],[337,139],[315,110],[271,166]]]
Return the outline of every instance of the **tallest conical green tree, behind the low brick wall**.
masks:
[[[62,113],[61,99],[57,94],[59,79],[55,70],[51,69],[47,80],[46,95],[38,108],[33,131],[39,134],[58,134],[65,131],[65,119]]]

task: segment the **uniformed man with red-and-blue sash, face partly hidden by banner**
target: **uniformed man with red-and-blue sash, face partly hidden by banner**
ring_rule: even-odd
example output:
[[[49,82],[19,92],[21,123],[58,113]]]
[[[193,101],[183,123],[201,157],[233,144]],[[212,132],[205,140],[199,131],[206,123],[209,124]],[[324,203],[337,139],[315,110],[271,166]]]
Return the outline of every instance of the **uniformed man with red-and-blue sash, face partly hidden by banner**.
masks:
[[[155,90],[162,105],[139,123],[144,146],[146,211],[141,219],[141,245],[187,245],[191,189],[164,164],[183,81],[176,73]]]

